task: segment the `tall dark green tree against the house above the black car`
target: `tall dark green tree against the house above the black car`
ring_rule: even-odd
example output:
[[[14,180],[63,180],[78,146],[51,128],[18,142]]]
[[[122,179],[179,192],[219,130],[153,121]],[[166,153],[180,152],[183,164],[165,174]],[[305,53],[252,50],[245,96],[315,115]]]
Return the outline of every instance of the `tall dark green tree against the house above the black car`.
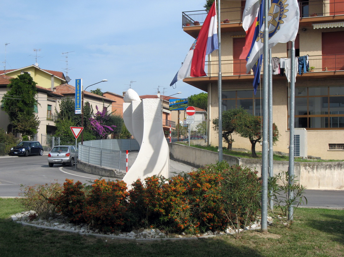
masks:
[[[28,73],[11,78],[10,88],[2,98],[4,111],[8,114],[15,130],[22,135],[33,136],[37,133],[40,121],[34,113],[36,100],[36,82]]]

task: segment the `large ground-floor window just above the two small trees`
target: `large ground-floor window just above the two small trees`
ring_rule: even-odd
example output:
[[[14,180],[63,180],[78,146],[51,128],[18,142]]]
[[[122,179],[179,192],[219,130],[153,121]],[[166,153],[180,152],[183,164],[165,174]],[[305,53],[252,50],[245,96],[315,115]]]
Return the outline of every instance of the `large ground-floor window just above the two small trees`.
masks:
[[[243,107],[249,113],[261,115],[260,90],[257,89],[256,95],[253,90],[222,91],[223,111]]]

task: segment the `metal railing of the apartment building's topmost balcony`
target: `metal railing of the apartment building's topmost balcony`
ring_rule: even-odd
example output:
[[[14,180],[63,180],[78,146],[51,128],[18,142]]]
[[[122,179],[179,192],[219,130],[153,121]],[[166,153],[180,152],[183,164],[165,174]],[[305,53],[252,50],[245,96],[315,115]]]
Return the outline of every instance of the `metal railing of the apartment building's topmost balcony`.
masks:
[[[228,20],[229,23],[242,22],[243,11],[245,7],[234,7],[221,9],[221,20]],[[334,16],[344,14],[344,0],[315,0],[299,2],[300,18],[314,16]],[[182,26],[194,26],[198,21],[203,24],[207,16],[206,10],[183,12]]]

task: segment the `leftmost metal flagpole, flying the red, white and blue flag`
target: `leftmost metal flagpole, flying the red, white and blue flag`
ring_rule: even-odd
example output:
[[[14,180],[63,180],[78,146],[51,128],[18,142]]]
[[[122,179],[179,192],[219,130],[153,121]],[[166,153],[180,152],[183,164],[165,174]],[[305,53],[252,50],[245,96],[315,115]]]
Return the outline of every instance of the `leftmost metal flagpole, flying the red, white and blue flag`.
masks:
[[[221,74],[221,10],[217,1],[217,38],[218,38],[218,161],[222,161],[222,74]]]

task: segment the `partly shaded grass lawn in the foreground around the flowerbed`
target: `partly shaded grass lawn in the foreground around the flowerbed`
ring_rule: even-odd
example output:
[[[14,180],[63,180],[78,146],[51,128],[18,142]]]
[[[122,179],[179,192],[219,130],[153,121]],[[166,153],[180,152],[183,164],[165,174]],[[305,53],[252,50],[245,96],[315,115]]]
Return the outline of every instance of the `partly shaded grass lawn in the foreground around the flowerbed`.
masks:
[[[137,243],[23,227],[10,215],[22,211],[15,199],[0,198],[0,253],[7,256],[344,256],[344,210],[295,210],[291,229],[274,223],[268,233],[245,231],[241,240]],[[276,222],[276,221],[274,221]],[[107,242],[106,242],[107,240]]]

